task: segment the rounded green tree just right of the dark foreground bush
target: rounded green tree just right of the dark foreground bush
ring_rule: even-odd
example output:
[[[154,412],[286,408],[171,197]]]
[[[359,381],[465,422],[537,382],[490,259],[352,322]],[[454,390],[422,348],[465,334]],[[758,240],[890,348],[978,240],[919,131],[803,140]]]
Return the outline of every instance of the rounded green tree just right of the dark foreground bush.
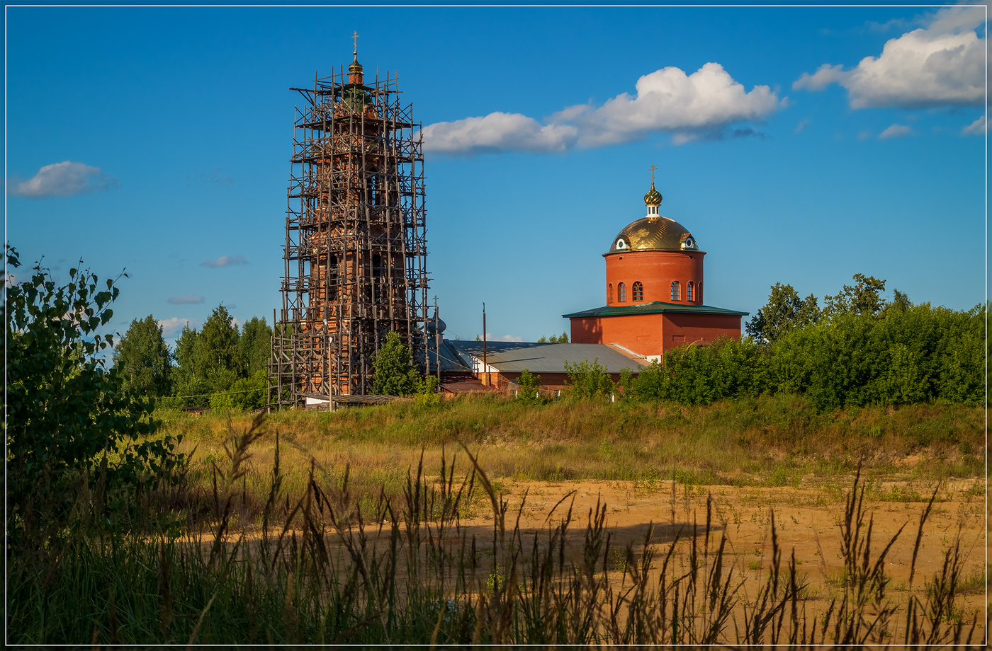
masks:
[[[162,337],[162,327],[151,314],[131,321],[131,327],[114,347],[113,359],[126,388],[142,395],[170,393],[172,354]]]

